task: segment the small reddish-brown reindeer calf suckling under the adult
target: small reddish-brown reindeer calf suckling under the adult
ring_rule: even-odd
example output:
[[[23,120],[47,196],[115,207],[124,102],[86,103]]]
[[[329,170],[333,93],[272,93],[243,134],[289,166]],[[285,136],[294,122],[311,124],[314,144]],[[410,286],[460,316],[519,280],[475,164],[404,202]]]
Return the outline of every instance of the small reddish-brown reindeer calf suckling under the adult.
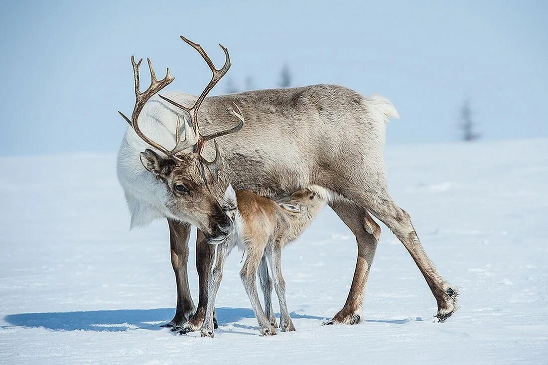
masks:
[[[292,242],[309,226],[313,218],[326,204],[327,197],[321,191],[302,189],[293,193],[286,203],[256,195],[249,190],[235,192],[232,186],[226,189],[222,209],[231,218],[230,232],[222,240],[210,240],[216,245],[213,272],[208,279],[208,302],[202,336],[213,337],[213,311],[215,297],[222,279],[226,257],[234,246],[244,250],[246,260],[240,277],[246,289],[255,317],[263,335],[275,335],[276,317],[272,310],[272,279],[267,260],[273,274],[274,288],[281,312],[280,329],[294,331],[286,304],[286,282],[282,276],[282,248]],[[261,289],[265,297],[262,310],[256,288],[256,274],[259,270]]]

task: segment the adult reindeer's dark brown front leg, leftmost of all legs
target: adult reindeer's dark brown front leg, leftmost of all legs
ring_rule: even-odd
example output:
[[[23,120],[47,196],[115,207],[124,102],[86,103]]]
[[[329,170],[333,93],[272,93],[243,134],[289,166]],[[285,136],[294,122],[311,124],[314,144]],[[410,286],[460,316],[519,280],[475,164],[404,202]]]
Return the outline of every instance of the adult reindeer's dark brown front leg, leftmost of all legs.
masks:
[[[163,327],[180,327],[189,320],[195,311],[190,296],[187,267],[189,261],[190,224],[168,219],[169,242],[175,282],[177,285],[177,306],[173,319]]]

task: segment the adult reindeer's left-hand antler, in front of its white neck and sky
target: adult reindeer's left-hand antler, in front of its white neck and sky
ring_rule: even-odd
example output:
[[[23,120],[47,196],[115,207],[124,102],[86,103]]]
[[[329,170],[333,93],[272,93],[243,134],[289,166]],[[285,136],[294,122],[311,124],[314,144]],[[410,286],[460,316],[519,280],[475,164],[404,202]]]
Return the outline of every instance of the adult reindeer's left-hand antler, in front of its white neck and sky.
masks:
[[[152,139],[145,136],[144,133],[139,128],[139,114],[142,111],[142,108],[144,108],[147,101],[149,101],[150,98],[157,92],[161,91],[163,88],[168,86],[170,83],[175,80],[175,77],[169,74],[169,68],[165,72],[165,77],[162,78],[162,80],[158,80],[156,78],[156,73],[154,72],[154,68],[152,67],[152,62],[150,58],[146,59],[149,63],[149,70],[150,70],[150,86],[144,91],[141,92],[140,89],[140,83],[139,83],[139,66],[141,65],[142,58],[139,60],[139,62],[135,62],[135,57],[132,56],[132,66],[133,66],[133,76],[135,80],[135,106],[133,108],[132,113],[132,119],[130,120],[127,116],[125,116],[121,111],[118,111],[118,113],[129,123],[130,126],[132,126],[135,133],[138,134],[139,137],[146,143],[150,144],[152,147],[158,149],[159,151],[162,151],[165,155],[176,158],[175,154],[179,153],[180,151],[184,150],[185,148],[191,147],[191,145],[195,143],[186,143],[187,135],[186,133],[186,122],[185,122],[185,139],[181,141],[180,139],[180,127],[181,127],[181,119],[180,116],[177,116],[177,126],[175,130],[175,147],[172,150],[168,150],[167,148],[163,147],[162,145],[152,141]]]

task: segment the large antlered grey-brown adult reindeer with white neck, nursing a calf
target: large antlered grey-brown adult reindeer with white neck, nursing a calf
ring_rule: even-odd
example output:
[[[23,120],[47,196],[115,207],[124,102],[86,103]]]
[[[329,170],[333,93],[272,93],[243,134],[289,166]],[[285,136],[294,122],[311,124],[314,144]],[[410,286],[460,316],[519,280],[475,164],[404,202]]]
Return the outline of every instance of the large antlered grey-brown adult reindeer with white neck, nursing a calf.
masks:
[[[203,323],[212,265],[212,249],[205,238],[225,235],[222,227],[227,218],[219,201],[229,181],[237,190],[249,189],[273,199],[310,186],[330,192],[328,204],[356,236],[358,257],[345,305],[329,324],[362,321],[364,289],[380,236],[370,214],[385,223],[413,257],[436,298],[438,320],[452,315],[456,291],[427,257],[407,212],[387,192],[385,124],[398,117],[395,108],[383,97],[362,97],[333,85],[206,98],[229,70],[229,52],[219,44],[226,59],[216,69],[199,44],[181,39],[206,61],[212,80],[198,97],[186,93],[153,97],[174,77],[168,69],[157,80],[149,60],[151,85],[140,92],[141,61],[135,63],[132,57],[136,102],[131,119],[121,113],[130,128],[118,155],[118,178],[132,227],[155,218],[168,221],[178,293],[175,317],[168,326],[186,332]],[[196,311],[187,279],[191,225],[198,227]]]

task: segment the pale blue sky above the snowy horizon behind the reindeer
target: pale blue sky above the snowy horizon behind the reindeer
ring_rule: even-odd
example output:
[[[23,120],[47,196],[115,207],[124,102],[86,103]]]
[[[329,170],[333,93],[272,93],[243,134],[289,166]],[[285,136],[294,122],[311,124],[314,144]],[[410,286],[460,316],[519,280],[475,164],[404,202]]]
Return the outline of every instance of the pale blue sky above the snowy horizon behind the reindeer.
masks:
[[[209,81],[181,34],[217,63],[229,48],[237,85],[275,87],[287,63],[295,85],[383,94],[401,114],[389,143],[455,141],[465,97],[486,139],[546,137],[547,19],[544,1],[1,0],[0,155],[115,151],[132,54],[169,66],[170,89]]]

